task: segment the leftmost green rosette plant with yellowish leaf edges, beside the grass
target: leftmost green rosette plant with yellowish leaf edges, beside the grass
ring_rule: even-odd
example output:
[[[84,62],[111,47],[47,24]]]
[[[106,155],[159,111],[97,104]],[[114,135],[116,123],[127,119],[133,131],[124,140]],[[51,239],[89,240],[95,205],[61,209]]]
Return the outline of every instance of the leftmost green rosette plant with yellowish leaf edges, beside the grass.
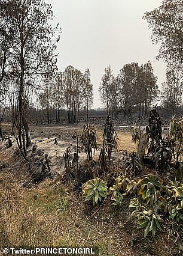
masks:
[[[85,201],[92,200],[93,206],[98,204],[99,201],[102,201],[102,198],[106,198],[107,195],[108,187],[106,186],[106,182],[100,178],[94,178],[84,184],[83,198],[85,198]]]

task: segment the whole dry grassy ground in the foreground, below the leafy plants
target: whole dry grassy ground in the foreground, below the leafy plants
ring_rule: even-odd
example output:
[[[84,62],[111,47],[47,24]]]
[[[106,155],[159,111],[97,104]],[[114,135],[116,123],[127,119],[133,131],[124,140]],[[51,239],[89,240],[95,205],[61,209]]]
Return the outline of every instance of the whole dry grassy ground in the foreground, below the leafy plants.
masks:
[[[84,203],[78,192],[72,192],[72,185],[72,182],[60,184],[62,187],[53,189],[53,181],[47,180],[37,187],[26,189],[15,175],[1,172],[0,248],[98,246],[102,256],[136,256],[142,255],[144,246],[150,246],[148,241],[141,240],[143,234],[136,231],[130,220],[129,226],[126,225],[130,216],[129,201],[124,200],[121,210],[116,212],[108,198],[96,218],[89,219],[96,209],[91,207],[90,202]],[[138,251],[132,245],[134,239],[139,241]],[[169,248],[157,254],[157,251],[164,250],[163,243],[157,242],[154,240],[150,246],[152,250],[154,243],[157,245],[154,255],[169,255]],[[141,243],[144,244],[141,246]]]

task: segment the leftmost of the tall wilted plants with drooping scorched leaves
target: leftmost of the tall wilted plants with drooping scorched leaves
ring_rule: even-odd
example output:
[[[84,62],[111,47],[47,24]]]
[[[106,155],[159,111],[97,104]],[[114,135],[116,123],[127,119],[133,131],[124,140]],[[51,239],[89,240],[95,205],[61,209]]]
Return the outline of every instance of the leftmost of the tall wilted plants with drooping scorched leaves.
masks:
[[[93,124],[86,124],[81,135],[81,144],[87,153],[89,160],[93,159],[93,151],[97,150],[96,127]]]

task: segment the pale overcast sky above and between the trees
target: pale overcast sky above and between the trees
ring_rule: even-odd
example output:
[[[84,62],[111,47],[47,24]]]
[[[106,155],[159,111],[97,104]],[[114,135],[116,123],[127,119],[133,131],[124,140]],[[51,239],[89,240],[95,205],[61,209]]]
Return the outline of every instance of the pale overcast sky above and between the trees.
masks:
[[[142,19],[145,11],[161,4],[159,0],[47,0],[53,6],[55,22],[62,27],[58,67],[70,64],[81,72],[88,67],[94,88],[94,108],[101,106],[98,93],[104,69],[111,64],[117,75],[124,64],[151,61],[161,85],[165,65],[156,61],[158,46]]]

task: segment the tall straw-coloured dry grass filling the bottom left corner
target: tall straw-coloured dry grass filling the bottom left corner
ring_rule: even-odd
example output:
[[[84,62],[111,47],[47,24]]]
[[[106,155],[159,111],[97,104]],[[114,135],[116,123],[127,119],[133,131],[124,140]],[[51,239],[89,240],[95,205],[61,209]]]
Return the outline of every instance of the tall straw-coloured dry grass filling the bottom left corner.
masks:
[[[0,247],[53,244],[45,215],[26,204],[28,191],[10,173],[1,173]],[[48,235],[49,233],[49,235]]]

